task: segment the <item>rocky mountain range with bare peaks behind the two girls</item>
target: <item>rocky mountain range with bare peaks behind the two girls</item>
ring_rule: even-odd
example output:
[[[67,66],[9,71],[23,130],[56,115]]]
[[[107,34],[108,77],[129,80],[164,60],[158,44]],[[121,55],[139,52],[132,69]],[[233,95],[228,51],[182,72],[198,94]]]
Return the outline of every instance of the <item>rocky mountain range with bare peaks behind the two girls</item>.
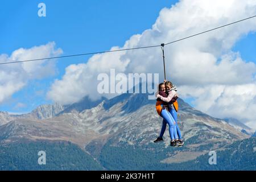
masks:
[[[67,147],[65,151],[80,148],[92,165],[85,167],[77,163],[81,167],[74,169],[157,170],[163,165],[166,169],[174,164],[189,166],[205,158],[209,151],[233,151],[234,142],[250,140],[252,130],[241,122],[211,117],[180,98],[178,102],[178,123],[185,139],[183,147],[170,147],[168,132],[164,134],[164,142],[154,143],[162,125],[162,118],[155,111],[155,100],[148,100],[147,94],[127,93],[110,100],[91,101],[85,97],[68,106],[42,105],[22,115],[1,112],[0,141],[6,146],[1,150],[8,153],[7,148],[15,148],[14,143],[30,144],[34,150],[38,142],[44,142],[46,148],[53,145],[55,150],[60,145]],[[1,155],[0,159],[5,159]],[[1,161],[5,160],[0,160],[0,164]],[[15,163],[12,167],[9,163],[1,165],[4,169],[24,169],[23,163]],[[69,169],[67,164],[63,165],[67,167],[53,165],[52,169]],[[28,165],[26,169],[38,168]]]

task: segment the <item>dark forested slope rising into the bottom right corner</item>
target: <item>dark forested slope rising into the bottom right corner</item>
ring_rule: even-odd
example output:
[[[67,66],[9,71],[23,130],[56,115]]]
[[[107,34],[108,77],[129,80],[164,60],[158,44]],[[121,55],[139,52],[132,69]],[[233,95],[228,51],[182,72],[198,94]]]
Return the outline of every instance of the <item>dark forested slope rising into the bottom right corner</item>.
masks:
[[[199,156],[195,160],[189,162],[170,164],[162,166],[163,170],[256,170],[256,155],[255,148],[256,138],[251,137],[242,141],[236,141],[229,146],[226,150],[216,151],[217,160],[216,165],[209,164],[210,156],[205,154]],[[158,164],[156,164],[158,165]],[[156,166],[148,167],[154,169]]]

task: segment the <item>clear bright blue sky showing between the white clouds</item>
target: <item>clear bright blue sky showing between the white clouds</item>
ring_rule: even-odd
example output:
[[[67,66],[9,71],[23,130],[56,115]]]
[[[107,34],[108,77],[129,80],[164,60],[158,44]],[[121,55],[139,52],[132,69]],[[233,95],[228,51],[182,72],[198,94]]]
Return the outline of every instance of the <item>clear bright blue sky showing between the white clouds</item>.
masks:
[[[38,16],[38,4],[46,3],[47,16]],[[55,42],[63,55],[104,51],[123,46],[134,34],[151,28],[163,7],[176,1],[1,1],[0,54],[18,48],[31,48]],[[212,28],[212,27],[210,27]],[[167,40],[168,41],[168,40]],[[256,35],[243,36],[233,47],[246,61],[256,63]],[[37,58],[37,57],[35,57]],[[1,111],[26,113],[41,104],[50,104],[46,92],[61,78],[70,64],[84,63],[89,56],[59,59],[55,76],[32,80],[19,92],[2,102]],[[191,99],[188,100],[191,103]],[[19,106],[17,106],[17,104]],[[22,105],[23,104],[23,105]]]

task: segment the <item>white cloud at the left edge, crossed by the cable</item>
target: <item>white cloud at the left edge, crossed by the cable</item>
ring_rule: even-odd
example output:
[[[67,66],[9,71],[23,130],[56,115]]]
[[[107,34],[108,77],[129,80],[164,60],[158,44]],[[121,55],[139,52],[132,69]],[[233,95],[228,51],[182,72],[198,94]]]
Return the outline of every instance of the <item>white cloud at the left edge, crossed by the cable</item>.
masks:
[[[30,60],[36,57],[58,56],[61,49],[55,49],[55,43],[50,42],[43,46],[29,49],[19,48],[11,55],[1,54],[0,62]],[[29,80],[41,79],[55,73],[55,61],[34,61],[16,64],[5,64],[0,67],[0,103],[22,89]]]

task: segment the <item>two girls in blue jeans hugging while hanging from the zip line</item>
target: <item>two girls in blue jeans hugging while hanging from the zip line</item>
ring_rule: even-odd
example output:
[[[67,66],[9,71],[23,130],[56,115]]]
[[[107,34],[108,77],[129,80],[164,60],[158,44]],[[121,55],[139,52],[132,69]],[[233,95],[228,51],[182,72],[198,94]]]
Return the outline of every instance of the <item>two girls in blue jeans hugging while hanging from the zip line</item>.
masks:
[[[183,146],[184,141],[181,137],[179,126],[177,125],[177,89],[172,82],[164,80],[159,84],[159,92],[156,93],[156,111],[163,118],[162,129],[159,137],[154,142],[162,142],[166,125],[169,125],[171,146]]]

